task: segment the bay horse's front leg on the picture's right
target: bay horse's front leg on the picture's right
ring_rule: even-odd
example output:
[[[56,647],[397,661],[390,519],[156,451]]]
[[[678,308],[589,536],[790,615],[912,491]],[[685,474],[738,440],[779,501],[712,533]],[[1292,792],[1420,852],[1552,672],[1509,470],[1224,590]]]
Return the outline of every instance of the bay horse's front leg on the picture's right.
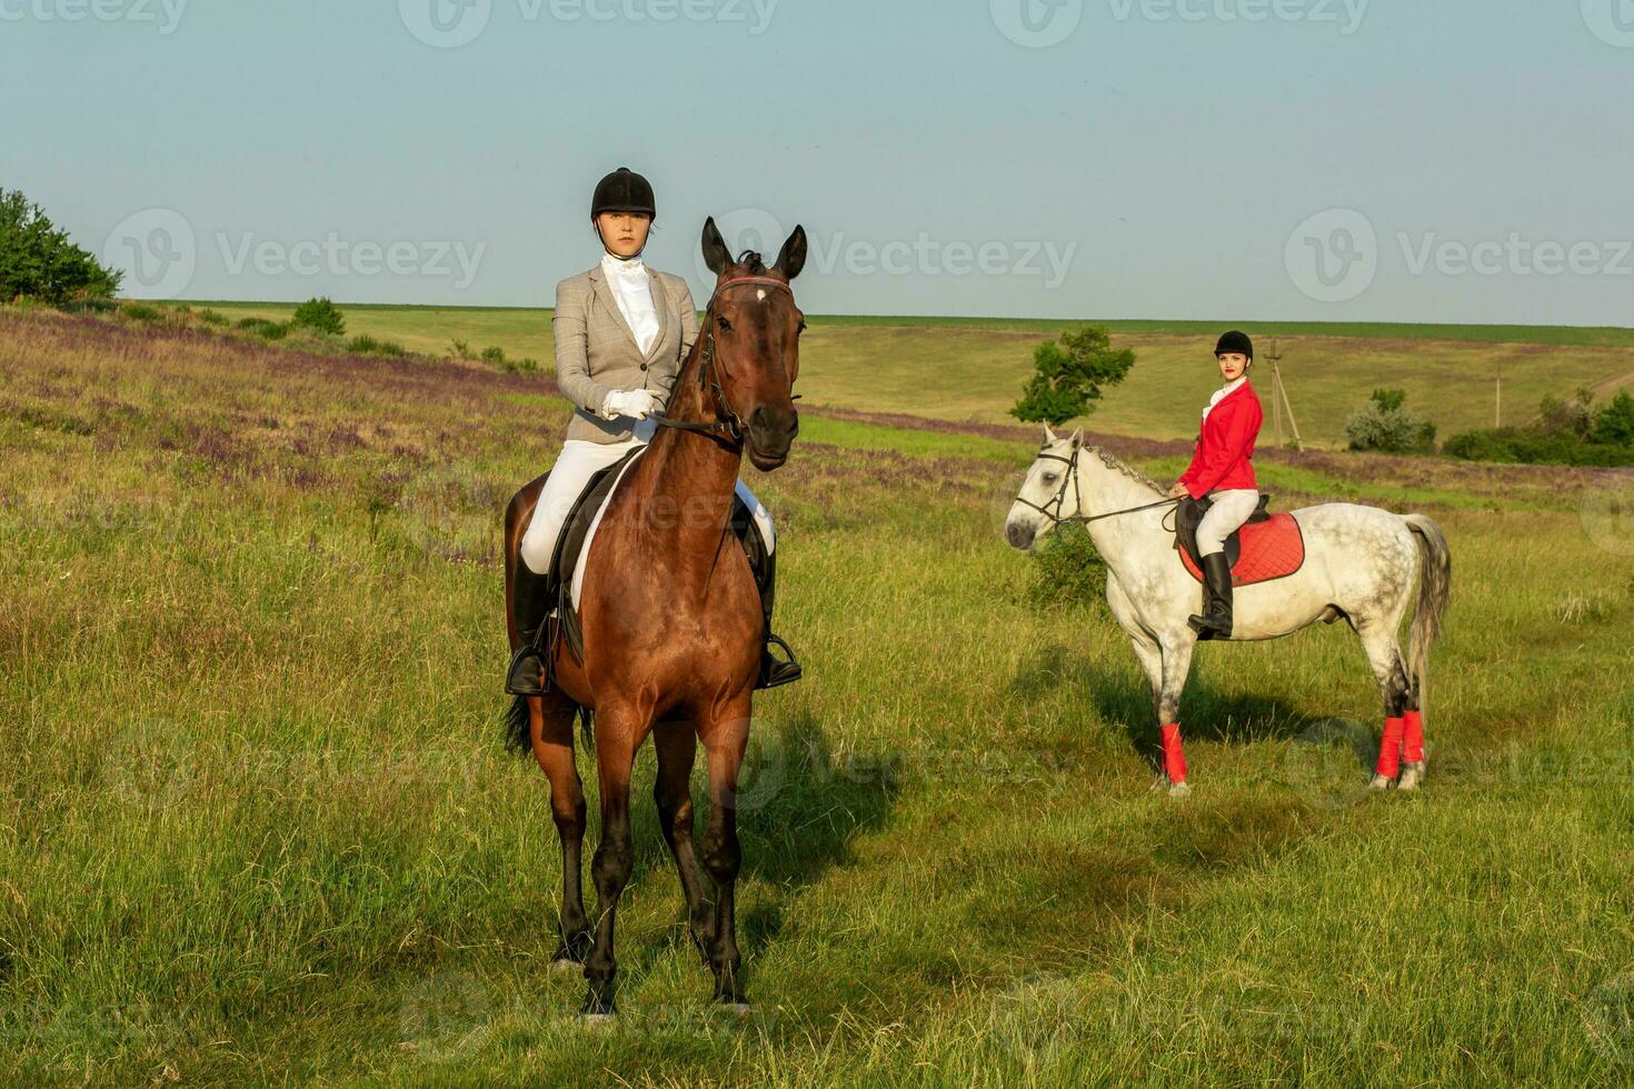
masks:
[[[748,746],[750,704],[729,705],[714,722],[699,725],[709,762],[709,825],[704,829],[704,867],[716,885],[714,944],[709,965],[717,1002],[743,1007],[742,965],[737,950],[735,895],[742,849],[737,842],[737,776]]]

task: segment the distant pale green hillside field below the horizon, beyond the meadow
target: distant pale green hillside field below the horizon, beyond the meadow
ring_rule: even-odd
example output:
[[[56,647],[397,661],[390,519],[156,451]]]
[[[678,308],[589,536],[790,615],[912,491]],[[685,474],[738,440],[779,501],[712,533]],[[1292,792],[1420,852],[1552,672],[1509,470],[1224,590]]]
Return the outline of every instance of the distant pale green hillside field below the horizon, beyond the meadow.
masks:
[[[209,304],[234,318],[288,318],[279,304]],[[345,307],[348,333],[386,336],[413,351],[446,354],[453,340],[554,358],[549,310]],[[1031,371],[1033,348],[1072,322],[1002,318],[814,317],[806,335],[801,390],[810,405],[913,413],[954,421],[1013,423],[1008,408]],[[1111,322],[1116,346],[1137,364],[1090,423],[1109,434],[1190,438],[1196,415],[1219,387],[1212,366],[1219,325]],[[1343,446],[1346,416],[1374,389],[1407,390],[1409,407],[1436,423],[1443,439],[1493,423],[1495,376],[1503,376],[1507,423],[1536,415],[1546,393],[1593,387],[1600,395],[1634,384],[1634,330],[1482,325],[1247,327],[1283,349],[1283,376],[1306,442]],[[1270,379],[1258,384],[1270,420]],[[1266,424],[1266,442],[1271,441]],[[1292,431],[1288,431],[1288,439]]]

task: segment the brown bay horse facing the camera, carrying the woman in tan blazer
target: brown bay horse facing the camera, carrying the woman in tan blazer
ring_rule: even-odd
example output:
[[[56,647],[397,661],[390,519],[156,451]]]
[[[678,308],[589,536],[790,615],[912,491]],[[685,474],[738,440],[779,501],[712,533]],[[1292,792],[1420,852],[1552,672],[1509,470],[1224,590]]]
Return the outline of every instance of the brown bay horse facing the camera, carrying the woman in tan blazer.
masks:
[[[806,264],[806,232],[765,268],[760,255],[730,256],[711,217],[704,261],[716,274],[698,340],[675,377],[657,434],[631,464],[583,558],[578,596],[583,658],[552,640],[552,681],[542,697],[516,697],[513,745],[531,751],[551,780],[562,842],[560,947],[554,965],[583,963],[583,1016],[616,1014],[613,926],[634,867],[631,772],[650,733],[659,756],[654,798],[681,875],[693,942],[714,971],[714,998],[747,1009],[734,896],[740,865],[737,777],[748,745],[760,673],[763,614],[748,560],[730,527],[743,454],[761,470],[789,457],[799,431],[794,379],[804,315],[791,281]],[[518,549],[546,477],[505,511],[505,612],[515,612]],[[569,573],[570,575],[570,573]],[[585,795],[574,759],[574,718],[583,715],[601,793],[601,842],[590,872],[595,937],[580,891]],[[716,896],[704,900],[693,849],[691,771],[703,743],[709,821],[701,856]]]

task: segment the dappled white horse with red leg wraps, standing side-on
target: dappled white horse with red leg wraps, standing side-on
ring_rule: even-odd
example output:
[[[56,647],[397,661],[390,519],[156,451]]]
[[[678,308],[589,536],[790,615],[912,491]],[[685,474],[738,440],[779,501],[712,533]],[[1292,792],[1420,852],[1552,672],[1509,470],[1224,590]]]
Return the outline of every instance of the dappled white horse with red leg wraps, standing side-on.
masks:
[[[1031,550],[1062,522],[1083,522],[1106,562],[1106,602],[1129,633],[1152,686],[1165,769],[1157,785],[1190,793],[1180,749],[1180,694],[1191,671],[1198,635],[1186,617],[1199,612],[1203,585],[1175,550],[1172,514],[1178,500],[1113,454],[1083,442],[1083,431],[1057,438],[1044,428],[1044,447],[1010,508],[1005,534]],[[1289,635],[1324,620],[1350,622],[1361,637],[1384,699],[1386,728],[1369,784],[1413,790],[1425,777],[1423,699],[1430,647],[1441,630],[1451,591],[1453,557],[1441,529],[1423,514],[1391,514],[1355,503],[1324,503],[1292,511],[1306,540],[1306,562],[1286,578],[1234,591],[1232,640]],[[1168,521],[1168,526],[1165,526]],[[1407,663],[1399,630],[1413,591]]]

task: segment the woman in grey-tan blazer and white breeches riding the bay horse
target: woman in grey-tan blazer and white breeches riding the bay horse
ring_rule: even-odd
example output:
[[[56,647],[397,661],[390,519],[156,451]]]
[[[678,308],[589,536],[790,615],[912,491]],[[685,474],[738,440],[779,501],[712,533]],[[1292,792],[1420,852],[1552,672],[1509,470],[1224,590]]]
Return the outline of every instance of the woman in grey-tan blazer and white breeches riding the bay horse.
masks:
[[[686,281],[642,264],[641,253],[655,216],[657,202],[645,178],[626,167],[609,173],[596,184],[590,204],[590,220],[605,250],[601,261],[556,287],[551,323],[556,382],[575,411],[521,540],[526,573],[518,571],[525,576],[516,586],[516,622],[523,645],[507,679],[513,696],[539,694],[541,648],[536,643],[554,604],[546,576],[562,522],[596,470],[652,439],[657,424],[650,416],[668,403],[675,376],[698,340],[698,312]],[[742,480],[737,498],[755,522],[765,555],[757,581],[768,648],[761,655],[758,687],[776,687],[801,679],[792,655],[781,661],[770,651],[771,643],[788,650],[788,643],[771,633],[776,534],[771,514]],[[753,558],[753,550],[750,553]]]

